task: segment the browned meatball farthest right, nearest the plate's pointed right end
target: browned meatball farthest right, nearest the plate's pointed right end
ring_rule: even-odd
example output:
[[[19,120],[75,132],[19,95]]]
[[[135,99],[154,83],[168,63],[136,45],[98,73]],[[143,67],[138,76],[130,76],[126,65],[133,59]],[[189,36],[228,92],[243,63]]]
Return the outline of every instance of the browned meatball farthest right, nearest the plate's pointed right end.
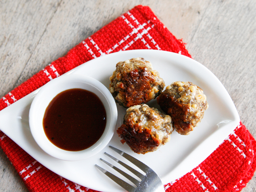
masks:
[[[172,83],[156,100],[161,109],[171,116],[175,130],[181,135],[190,134],[208,108],[203,90],[191,82]]]

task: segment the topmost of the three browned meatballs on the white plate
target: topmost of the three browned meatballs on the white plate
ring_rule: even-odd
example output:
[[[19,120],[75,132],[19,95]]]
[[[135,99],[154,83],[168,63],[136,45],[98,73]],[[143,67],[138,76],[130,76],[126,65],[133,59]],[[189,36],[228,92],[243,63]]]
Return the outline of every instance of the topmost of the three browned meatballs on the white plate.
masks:
[[[144,58],[132,58],[116,64],[109,78],[110,92],[115,101],[124,107],[147,103],[164,89],[164,80]]]

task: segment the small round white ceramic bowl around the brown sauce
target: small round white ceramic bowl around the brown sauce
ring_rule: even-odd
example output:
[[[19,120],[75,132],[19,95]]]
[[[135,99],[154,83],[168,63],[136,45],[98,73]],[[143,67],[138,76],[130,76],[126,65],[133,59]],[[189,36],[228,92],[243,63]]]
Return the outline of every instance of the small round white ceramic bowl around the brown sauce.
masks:
[[[60,92],[72,88],[82,88],[96,94],[102,101],[107,115],[106,127],[100,139],[82,151],[65,151],[56,147],[43,130],[43,116],[51,100]],[[36,143],[49,155],[67,161],[89,158],[104,149],[114,134],[116,122],[117,106],[109,90],[100,81],[77,74],[62,75],[44,85],[36,94],[29,111],[29,126]]]

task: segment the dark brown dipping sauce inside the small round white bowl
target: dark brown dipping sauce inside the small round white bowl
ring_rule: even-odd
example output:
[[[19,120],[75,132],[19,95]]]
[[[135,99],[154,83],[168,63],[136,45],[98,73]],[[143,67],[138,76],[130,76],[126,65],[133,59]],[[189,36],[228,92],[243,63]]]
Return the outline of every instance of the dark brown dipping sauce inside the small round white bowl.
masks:
[[[53,98],[45,110],[43,128],[47,138],[60,149],[81,151],[100,139],[106,117],[96,94],[73,88]]]

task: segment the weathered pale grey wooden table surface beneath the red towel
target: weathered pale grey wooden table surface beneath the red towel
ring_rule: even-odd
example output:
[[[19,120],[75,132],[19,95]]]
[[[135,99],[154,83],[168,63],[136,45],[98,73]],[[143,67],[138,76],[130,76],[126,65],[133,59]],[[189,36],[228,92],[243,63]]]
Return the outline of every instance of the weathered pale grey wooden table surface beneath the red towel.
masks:
[[[256,137],[255,0],[0,0],[0,98],[139,4],[220,79]],[[254,176],[242,191],[255,190]],[[28,191],[2,149],[0,191]]]

